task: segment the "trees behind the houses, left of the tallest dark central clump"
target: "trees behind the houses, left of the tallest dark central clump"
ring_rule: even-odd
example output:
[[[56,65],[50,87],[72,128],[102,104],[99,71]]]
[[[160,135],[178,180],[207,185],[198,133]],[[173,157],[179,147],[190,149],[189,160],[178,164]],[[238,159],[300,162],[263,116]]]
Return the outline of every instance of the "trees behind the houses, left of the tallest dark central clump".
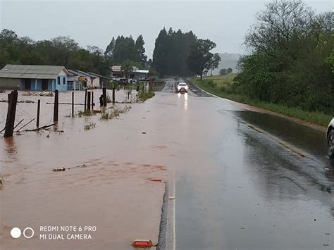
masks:
[[[0,33],[0,68],[6,64],[64,65],[73,70],[83,70],[110,76],[112,65],[132,64],[149,68],[145,55],[144,39],[118,36],[102,51],[97,46],[83,49],[70,37],[34,41],[18,37],[12,30]]]

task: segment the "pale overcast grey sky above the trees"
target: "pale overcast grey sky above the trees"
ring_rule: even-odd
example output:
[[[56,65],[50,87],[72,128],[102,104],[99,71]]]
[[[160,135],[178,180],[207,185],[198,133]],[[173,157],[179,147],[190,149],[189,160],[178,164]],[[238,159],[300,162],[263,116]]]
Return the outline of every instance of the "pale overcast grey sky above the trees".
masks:
[[[34,40],[68,35],[80,46],[105,50],[111,37],[144,37],[151,58],[161,28],[192,30],[216,42],[216,52],[244,53],[242,41],[255,14],[269,1],[30,1],[0,0],[0,28]],[[333,10],[333,1],[304,1],[316,12]]]

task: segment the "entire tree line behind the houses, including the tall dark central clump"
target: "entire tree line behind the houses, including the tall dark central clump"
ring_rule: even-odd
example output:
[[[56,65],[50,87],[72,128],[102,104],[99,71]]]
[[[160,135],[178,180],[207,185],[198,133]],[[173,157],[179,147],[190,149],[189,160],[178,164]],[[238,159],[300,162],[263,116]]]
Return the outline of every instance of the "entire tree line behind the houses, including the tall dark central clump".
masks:
[[[113,37],[106,51],[97,46],[83,49],[70,37],[33,41],[18,37],[11,30],[0,33],[0,67],[7,63],[34,65],[64,65],[74,70],[84,70],[101,75],[111,75],[111,65],[129,65],[149,68],[160,75],[205,75],[218,67],[221,58],[212,54],[216,47],[209,39],[197,39],[190,32],[168,32],[163,28],[156,38],[153,63],[147,61],[142,35],[136,41],[132,37]],[[150,68],[153,65],[153,68]]]

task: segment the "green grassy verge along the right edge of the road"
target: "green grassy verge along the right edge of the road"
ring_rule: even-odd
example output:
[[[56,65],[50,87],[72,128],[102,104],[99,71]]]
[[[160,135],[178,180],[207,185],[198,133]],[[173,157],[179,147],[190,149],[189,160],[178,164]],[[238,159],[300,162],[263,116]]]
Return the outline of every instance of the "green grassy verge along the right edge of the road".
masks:
[[[215,94],[216,96],[221,96],[225,99],[237,101],[242,104],[264,108],[268,111],[273,111],[293,118],[305,120],[309,123],[327,126],[330,119],[332,118],[332,115],[328,115],[326,113],[303,111],[300,108],[291,108],[280,104],[273,104],[251,99],[249,96],[242,94],[231,94],[226,92],[226,89],[228,89],[228,86],[231,84],[233,78],[236,75],[237,74],[235,73],[230,73],[228,75],[204,77],[202,81],[199,79],[199,77],[190,77],[190,80],[192,80],[192,82],[198,87],[206,90],[207,92],[210,92],[211,94]]]

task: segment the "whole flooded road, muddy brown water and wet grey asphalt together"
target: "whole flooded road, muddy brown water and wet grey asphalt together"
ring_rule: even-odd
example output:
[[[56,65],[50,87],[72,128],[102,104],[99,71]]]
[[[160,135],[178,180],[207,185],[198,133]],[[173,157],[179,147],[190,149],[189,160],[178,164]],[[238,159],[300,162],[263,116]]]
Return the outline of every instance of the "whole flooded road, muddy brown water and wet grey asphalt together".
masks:
[[[35,117],[36,105],[24,105],[31,108],[21,106],[19,114]],[[4,236],[13,222],[70,220],[101,230],[85,244],[39,245],[35,239],[32,246],[39,248],[30,249],[132,249],[139,229],[158,234],[163,187],[147,178],[163,177],[170,185],[175,181],[176,249],[333,249],[334,165],[326,158],[323,132],[247,111],[192,85],[189,93],[176,94],[174,80],[153,99],[131,106],[106,122],[99,115],[68,118],[70,106],[63,106],[58,128],[65,132],[1,139],[0,169],[8,182],[0,191],[0,238],[6,246],[13,243]],[[46,107],[43,125],[52,117]],[[87,123],[96,127],[85,131]],[[50,171],[83,163],[92,167],[64,176]],[[143,196],[149,204],[130,202]],[[32,208],[22,208],[27,205]]]

